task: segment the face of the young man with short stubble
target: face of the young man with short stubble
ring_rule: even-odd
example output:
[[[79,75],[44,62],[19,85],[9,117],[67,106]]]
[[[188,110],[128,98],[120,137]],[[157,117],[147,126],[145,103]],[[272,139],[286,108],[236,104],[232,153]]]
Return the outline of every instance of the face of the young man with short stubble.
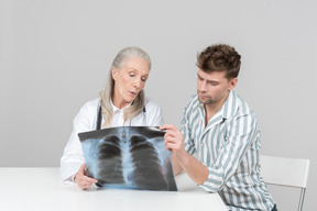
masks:
[[[230,90],[234,88],[238,79],[226,78],[226,71],[206,73],[201,69],[197,73],[197,93],[203,104],[223,103]]]

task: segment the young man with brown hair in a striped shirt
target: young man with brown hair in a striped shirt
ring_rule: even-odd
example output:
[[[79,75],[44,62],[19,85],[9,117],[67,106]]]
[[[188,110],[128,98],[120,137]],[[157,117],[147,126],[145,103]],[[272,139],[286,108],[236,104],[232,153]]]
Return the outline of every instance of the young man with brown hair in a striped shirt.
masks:
[[[182,130],[165,124],[175,174],[185,170],[199,187],[218,192],[229,210],[276,211],[260,176],[260,129],[233,88],[241,56],[229,45],[197,56],[197,93],[185,108]],[[195,155],[195,157],[193,156]]]

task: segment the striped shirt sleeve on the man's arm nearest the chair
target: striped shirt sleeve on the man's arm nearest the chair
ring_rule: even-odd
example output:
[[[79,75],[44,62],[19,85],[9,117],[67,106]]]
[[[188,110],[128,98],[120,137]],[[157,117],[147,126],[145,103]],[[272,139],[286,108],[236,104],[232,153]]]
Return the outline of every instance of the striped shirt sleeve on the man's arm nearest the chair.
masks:
[[[208,192],[221,190],[237,171],[242,157],[256,138],[260,138],[260,131],[253,115],[244,114],[233,118],[228,124],[225,143],[216,162],[207,166],[208,179],[200,187]]]

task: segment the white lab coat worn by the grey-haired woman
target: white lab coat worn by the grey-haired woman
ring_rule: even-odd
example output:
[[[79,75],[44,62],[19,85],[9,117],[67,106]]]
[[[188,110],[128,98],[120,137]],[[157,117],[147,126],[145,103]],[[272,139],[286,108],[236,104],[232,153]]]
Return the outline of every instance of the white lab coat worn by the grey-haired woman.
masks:
[[[112,104],[112,102],[111,102]],[[129,106],[128,106],[129,107]],[[123,111],[125,108],[118,109],[112,104],[113,115],[109,127],[123,126]],[[150,99],[145,98],[145,112],[143,111],[131,121],[125,122],[124,126],[161,126],[163,115],[161,108]],[[74,177],[80,166],[85,163],[81,144],[78,133],[95,131],[97,126],[99,99],[85,103],[73,122],[73,132],[61,158],[61,178],[63,182],[74,182]],[[103,124],[103,119],[101,126]]]

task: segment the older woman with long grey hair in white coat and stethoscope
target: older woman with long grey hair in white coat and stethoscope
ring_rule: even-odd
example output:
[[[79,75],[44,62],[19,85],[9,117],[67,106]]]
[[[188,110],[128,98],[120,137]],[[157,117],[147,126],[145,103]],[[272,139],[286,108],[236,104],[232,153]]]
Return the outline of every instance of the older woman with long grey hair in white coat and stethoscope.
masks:
[[[85,158],[78,133],[114,126],[161,126],[161,108],[145,98],[143,88],[151,69],[150,56],[139,47],[118,53],[99,98],[88,101],[74,119],[74,129],[61,158],[64,182],[86,189],[96,184],[86,176]]]

